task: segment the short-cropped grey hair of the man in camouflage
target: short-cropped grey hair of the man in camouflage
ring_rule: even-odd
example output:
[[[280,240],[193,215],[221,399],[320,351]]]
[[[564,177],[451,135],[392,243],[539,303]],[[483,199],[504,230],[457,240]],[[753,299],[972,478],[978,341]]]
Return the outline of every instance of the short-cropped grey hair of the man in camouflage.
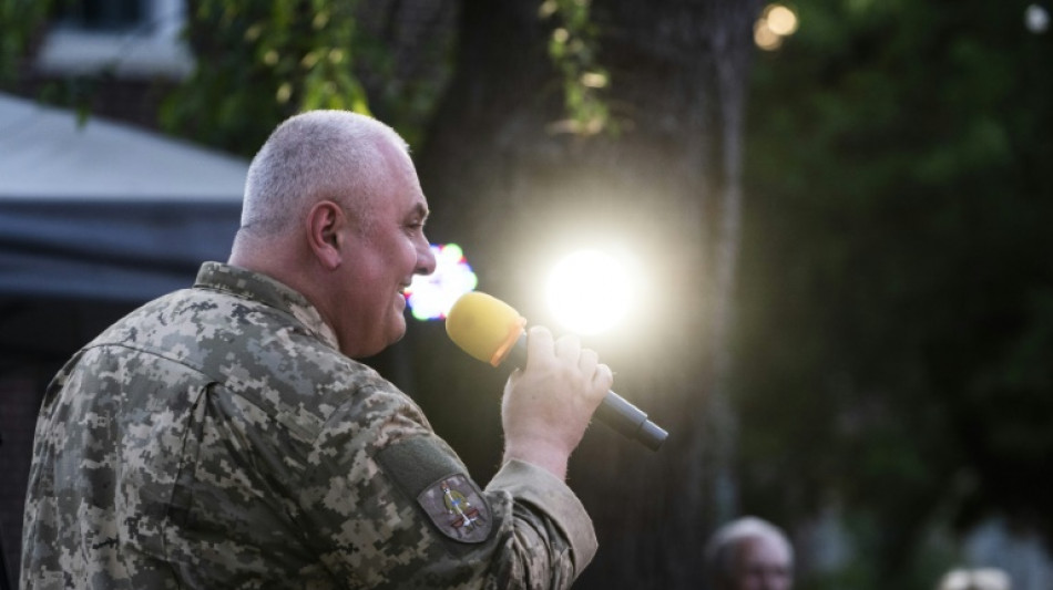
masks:
[[[242,229],[279,234],[321,199],[350,207],[368,222],[368,199],[386,175],[384,142],[408,152],[391,127],[349,111],[309,111],[277,126],[253,158]]]

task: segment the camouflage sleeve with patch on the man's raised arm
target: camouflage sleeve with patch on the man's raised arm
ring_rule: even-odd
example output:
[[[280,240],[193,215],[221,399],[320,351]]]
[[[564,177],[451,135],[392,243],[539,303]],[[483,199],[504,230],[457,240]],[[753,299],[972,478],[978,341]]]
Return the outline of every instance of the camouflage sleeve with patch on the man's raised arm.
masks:
[[[393,386],[359,391],[307,464],[300,516],[341,586],[568,588],[595,555],[563,482],[513,460],[481,489]]]

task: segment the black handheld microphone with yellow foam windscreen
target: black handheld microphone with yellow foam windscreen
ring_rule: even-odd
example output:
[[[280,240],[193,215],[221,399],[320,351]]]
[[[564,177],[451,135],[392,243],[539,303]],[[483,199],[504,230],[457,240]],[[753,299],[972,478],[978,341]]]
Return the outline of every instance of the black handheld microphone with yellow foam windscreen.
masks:
[[[505,360],[526,366],[526,319],[511,306],[487,293],[464,293],[447,313],[446,333],[464,352],[492,366]],[[609,391],[595,417],[622,435],[657,451],[669,435],[647,414]]]

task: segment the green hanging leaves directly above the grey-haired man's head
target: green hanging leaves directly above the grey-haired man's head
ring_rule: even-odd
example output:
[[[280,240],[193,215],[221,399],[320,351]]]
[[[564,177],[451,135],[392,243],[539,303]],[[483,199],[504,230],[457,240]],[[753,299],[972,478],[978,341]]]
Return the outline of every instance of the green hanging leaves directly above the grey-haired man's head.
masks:
[[[357,2],[201,0],[190,39],[193,76],[166,102],[165,127],[252,154],[278,122],[313,108],[368,113],[354,68]]]

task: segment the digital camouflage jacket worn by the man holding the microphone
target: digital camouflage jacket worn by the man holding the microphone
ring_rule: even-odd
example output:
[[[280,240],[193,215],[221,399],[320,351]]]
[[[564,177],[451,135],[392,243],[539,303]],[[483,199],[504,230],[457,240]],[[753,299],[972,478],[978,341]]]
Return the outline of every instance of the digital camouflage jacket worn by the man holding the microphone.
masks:
[[[480,490],[305,298],[216,262],[63,368],[33,455],[23,590],[565,588],[596,549],[556,477]]]

